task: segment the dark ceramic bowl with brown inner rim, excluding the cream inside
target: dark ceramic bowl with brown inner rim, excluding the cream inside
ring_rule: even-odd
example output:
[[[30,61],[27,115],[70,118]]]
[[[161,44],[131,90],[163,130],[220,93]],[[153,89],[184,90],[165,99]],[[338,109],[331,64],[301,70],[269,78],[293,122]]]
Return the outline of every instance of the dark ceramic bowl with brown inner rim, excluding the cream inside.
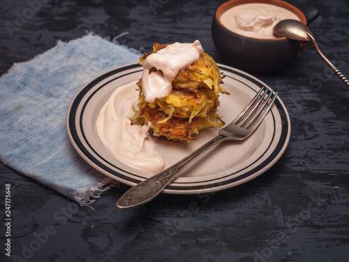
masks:
[[[290,66],[302,53],[306,42],[284,37],[251,38],[230,31],[222,24],[221,15],[242,3],[268,3],[286,8],[307,25],[318,17],[318,10],[307,8],[306,12],[302,12],[290,3],[278,0],[231,0],[217,8],[211,25],[211,34],[219,54],[230,66],[258,73],[279,71]]]

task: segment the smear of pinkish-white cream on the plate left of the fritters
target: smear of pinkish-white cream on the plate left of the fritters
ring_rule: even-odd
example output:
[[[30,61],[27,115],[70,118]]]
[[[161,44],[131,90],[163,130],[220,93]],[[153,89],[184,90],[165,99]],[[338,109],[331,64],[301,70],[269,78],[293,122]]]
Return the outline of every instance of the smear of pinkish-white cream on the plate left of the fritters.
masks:
[[[118,87],[103,105],[96,127],[103,145],[112,155],[128,166],[149,173],[158,173],[165,161],[156,152],[155,143],[147,136],[149,126],[133,125],[133,106],[138,103],[135,82]]]

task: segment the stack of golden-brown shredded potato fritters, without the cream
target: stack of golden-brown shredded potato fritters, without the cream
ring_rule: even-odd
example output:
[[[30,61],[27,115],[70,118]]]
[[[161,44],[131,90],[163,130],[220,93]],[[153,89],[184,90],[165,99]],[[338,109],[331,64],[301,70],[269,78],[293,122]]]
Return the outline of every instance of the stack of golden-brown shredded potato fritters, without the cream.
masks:
[[[168,45],[153,45],[153,52],[140,57],[143,64],[147,57]],[[151,71],[156,71],[151,68]],[[138,109],[131,117],[134,124],[148,124],[154,136],[168,140],[193,140],[193,135],[207,127],[222,127],[224,122],[217,115],[219,93],[228,94],[220,84],[221,72],[214,59],[203,52],[195,63],[181,69],[172,81],[172,92],[162,99],[148,103],[142,94],[142,79]]]

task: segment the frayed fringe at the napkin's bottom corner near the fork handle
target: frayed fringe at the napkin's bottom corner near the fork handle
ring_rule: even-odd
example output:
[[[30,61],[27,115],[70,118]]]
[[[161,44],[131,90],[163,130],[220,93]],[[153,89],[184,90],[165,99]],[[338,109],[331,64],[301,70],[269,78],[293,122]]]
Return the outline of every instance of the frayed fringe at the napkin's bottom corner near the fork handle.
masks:
[[[88,206],[91,208],[90,205],[96,201],[96,198],[101,198],[101,194],[104,191],[109,190],[110,187],[115,187],[117,184],[118,183],[110,177],[102,177],[91,184],[87,184],[85,187],[75,189],[73,192],[73,200],[81,207]]]

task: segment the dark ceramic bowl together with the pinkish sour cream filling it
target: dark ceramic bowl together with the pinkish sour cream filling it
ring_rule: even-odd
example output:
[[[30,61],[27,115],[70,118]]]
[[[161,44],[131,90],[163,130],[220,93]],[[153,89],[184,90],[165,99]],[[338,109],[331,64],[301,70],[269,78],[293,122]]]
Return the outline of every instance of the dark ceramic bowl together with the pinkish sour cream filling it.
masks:
[[[285,19],[309,24],[319,13],[302,12],[279,0],[231,0],[216,10],[211,34],[221,57],[244,71],[267,73],[290,66],[302,53],[305,41],[276,36],[275,24]]]

